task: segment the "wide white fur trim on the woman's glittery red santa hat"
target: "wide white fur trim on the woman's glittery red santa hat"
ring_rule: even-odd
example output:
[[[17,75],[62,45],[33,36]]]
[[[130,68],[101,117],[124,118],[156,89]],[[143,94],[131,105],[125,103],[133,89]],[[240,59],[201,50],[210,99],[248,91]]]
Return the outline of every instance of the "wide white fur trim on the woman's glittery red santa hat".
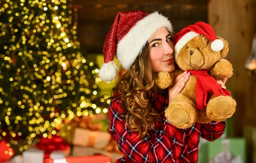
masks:
[[[172,32],[172,24],[163,15],[154,12],[139,20],[131,28],[128,34],[117,44],[116,54],[119,62],[125,70],[128,70],[134,63],[136,57],[141,53],[143,46],[150,39],[157,29],[166,27]]]

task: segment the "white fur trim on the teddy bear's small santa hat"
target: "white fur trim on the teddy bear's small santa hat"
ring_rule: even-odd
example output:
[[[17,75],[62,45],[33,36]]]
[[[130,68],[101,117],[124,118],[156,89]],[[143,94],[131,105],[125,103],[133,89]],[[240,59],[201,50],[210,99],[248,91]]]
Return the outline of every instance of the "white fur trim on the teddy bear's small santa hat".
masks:
[[[194,38],[198,35],[199,35],[198,33],[195,33],[194,31],[190,31],[190,32],[186,33],[183,37],[181,37],[180,40],[178,40],[178,42],[174,46],[174,59],[175,59],[176,63],[177,63],[177,57],[180,52],[180,49],[184,45],[186,45],[186,43],[189,42],[189,40],[191,40],[192,38]]]

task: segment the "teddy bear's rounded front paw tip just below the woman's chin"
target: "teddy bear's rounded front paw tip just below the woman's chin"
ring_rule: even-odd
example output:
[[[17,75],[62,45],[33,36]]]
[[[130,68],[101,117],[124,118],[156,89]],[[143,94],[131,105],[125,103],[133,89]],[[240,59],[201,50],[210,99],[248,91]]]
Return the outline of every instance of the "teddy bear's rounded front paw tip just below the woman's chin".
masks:
[[[166,89],[172,85],[174,79],[172,79],[171,74],[167,71],[159,72],[155,80],[157,86],[160,89]]]

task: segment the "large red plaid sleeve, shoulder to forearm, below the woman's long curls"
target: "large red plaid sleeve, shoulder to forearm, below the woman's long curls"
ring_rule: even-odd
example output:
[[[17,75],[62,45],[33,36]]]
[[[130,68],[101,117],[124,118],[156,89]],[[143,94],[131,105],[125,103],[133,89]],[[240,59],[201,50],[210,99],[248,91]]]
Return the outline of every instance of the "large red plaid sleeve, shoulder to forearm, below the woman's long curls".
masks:
[[[121,162],[133,160],[137,163],[175,162],[180,155],[185,134],[172,126],[166,118],[154,134],[140,138],[137,132],[128,129],[125,122],[126,113],[122,102],[115,98],[109,106],[111,137],[118,144],[124,155]]]

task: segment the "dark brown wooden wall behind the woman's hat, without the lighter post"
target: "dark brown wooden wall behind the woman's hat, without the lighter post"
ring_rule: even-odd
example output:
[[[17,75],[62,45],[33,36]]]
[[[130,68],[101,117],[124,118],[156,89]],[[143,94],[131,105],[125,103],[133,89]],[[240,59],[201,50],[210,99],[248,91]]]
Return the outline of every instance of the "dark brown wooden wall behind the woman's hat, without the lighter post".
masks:
[[[78,9],[78,39],[88,53],[101,53],[105,37],[119,11],[160,11],[175,31],[197,21],[207,22],[206,0],[73,0]]]

